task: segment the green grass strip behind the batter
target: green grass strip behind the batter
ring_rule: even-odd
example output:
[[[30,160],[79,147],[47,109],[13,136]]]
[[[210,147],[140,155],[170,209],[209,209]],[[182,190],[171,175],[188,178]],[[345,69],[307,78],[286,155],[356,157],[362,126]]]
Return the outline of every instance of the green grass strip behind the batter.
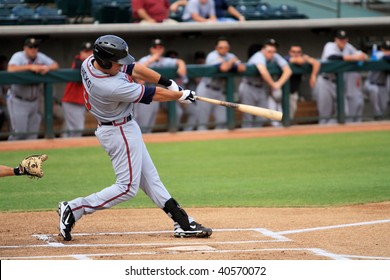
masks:
[[[148,144],[185,207],[314,207],[390,200],[390,132]],[[14,166],[31,151],[2,152]],[[0,179],[0,211],[53,210],[115,181],[100,147],[38,150],[45,176]],[[155,207],[142,191],[117,207]]]

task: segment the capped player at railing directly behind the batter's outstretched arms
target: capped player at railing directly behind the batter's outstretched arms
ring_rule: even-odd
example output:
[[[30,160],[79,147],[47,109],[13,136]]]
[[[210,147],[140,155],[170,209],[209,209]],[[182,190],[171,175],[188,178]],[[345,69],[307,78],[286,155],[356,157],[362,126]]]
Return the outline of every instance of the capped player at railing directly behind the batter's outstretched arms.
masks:
[[[177,67],[177,83],[179,85],[186,84],[188,82],[187,78],[187,66],[184,60],[180,58],[171,58],[165,57],[165,45],[164,42],[159,39],[153,39],[149,48],[149,54],[141,57],[138,60],[139,64],[142,64],[146,67]],[[141,82],[141,81],[138,81]],[[156,122],[157,113],[160,109],[159,102],[153,102],[150,105],[137,104],[135,106],[134,116],[137,119],[139,126],[143,133],[151,133],[153,131],[153,126]],[[181,109],[177,108],[178,115],[180,117]],[[179,119],[178,117],[178,119]]]

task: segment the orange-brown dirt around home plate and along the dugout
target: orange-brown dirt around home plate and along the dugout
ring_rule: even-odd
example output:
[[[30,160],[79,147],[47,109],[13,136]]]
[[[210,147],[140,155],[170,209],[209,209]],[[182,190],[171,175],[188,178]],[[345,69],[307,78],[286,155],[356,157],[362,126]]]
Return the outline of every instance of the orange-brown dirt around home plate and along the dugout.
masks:
[[[390,122],[162,133],[145,135],[145,142],[368,130],[390,130]],[[87,145],[98,143],[94,137],[38,140],[29,145],[5,142],[0,151]],[[71,242],[57,236],[54,211],[0,213],[0,259],[390,260],[390,202],[331,208],[187,210],[213,228],[210,238],[174,238],[170,219],[157,208],[110,209],[85,216],[76,223]]]

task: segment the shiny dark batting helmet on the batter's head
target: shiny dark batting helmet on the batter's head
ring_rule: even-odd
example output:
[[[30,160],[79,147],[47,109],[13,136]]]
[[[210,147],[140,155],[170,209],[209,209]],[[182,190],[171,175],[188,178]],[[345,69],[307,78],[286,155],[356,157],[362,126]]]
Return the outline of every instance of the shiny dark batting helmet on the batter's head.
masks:
[[[104,69],[110,69],[111,62],[131,64],[135,61],[134,57],[129,54],[127,43],[115,35],[99,37],[93,45],[93,56]]]

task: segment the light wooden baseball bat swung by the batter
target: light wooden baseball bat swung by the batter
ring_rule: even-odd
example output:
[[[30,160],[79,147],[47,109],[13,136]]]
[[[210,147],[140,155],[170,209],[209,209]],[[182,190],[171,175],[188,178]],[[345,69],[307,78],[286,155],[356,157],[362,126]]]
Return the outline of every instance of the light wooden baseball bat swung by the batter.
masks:
[[[256,106],[251,106],[251,105],[245,105],[245,104],[239,104],[239,103],[232,103],[232,102],[226,102],[226,101],[221,101],[217,99],[212,99],[208,97],[202,97],[202,96],[196,96],[197,100],[208,102],[214,105],[219,105],[219,106],[225,106],[227,108],[232,108],[236,109],[240,112],[275,120],[275,121],[281,121],[283,114],[282,112],[271,110],[271,109],[266,109],[262,107],[256,107]]]

